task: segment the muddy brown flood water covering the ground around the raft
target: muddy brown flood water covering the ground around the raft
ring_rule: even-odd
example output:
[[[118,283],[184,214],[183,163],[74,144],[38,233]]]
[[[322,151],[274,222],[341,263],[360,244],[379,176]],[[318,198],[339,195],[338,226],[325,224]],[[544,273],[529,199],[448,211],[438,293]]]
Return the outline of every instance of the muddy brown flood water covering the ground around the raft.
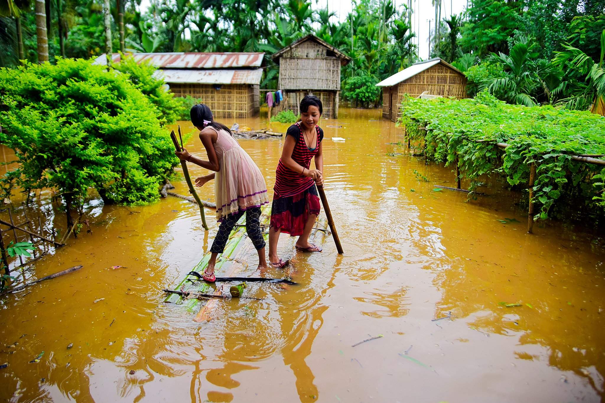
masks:
[[[195,312],[162,302],[162,289],[208,250],[213,211],[204,233],[197,207],[177,198],[129,208],[93,200],[93,233],[18,272],[19,282],[84,268],[0,297],[0,364],[8,363],[0,398],[604,401],[603,238],[556,222],[526,234],[518,195],[496,181],[477,201],[435,192],[454,185],[450,169],[388,144],[402,141],[401,129],[379,111],[341,115],[321,126],[325,192],[344,256],[331,238],[323,253],[307,255],[283,236],[280,256],[295,258],[299,286],[253,283],[246,295],[264,300],[219,301],[211,321],[194,323]],[[240,144],[272,189],[283,140]],[[188,149],[206,157],[196,136]],[[194,177],[206,173],[189,166]],[[184,181],[173,184],[187,193]],[[214,199],[212,183],[200,195]],[[519,222],[497,221],[505,218]],[[253,251],[246,262],[243,276],[256,268]]]

